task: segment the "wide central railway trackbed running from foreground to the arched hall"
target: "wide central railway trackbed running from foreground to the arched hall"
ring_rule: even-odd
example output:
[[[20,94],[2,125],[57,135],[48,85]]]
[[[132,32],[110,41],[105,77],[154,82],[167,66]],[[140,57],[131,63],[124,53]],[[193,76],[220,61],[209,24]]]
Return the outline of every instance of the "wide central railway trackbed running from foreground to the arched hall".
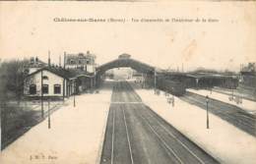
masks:
[[[115,84],[112,102],[101,164],[219,163],[144,105],[128,82]]]

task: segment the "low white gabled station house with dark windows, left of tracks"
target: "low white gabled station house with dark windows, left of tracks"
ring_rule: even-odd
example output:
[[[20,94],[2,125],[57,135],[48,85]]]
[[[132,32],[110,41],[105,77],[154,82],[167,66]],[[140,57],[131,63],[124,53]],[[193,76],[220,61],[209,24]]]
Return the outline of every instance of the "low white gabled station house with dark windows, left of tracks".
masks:
[[[75,92],[76,75],[58,67],[44,67],[32,72],[24,84],[28,97],[68,97]]]

